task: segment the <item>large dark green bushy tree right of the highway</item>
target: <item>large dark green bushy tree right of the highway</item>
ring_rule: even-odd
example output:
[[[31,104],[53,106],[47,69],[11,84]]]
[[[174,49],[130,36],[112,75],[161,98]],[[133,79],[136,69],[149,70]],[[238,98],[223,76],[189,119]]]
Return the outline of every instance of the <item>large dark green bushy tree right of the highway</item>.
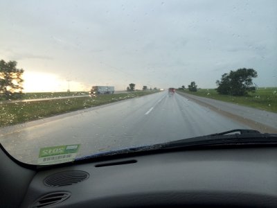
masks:
[[[252,78],[258,76],[257,71],[254,69],[237,69],[224,73],[221,81],[217,80],[217,92],[219,94],[229,94],[232,96],[244,96],[247,92],[253,92],[256,87],[253,86]]]

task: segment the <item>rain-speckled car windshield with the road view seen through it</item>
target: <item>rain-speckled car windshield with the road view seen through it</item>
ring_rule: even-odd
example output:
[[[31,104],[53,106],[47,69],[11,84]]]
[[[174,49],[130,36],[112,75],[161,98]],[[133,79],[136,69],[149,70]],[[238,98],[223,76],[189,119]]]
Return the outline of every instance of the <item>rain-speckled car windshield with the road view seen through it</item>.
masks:
[[[0,142],[20,162],[277,132],[275,0],[0,8]]]

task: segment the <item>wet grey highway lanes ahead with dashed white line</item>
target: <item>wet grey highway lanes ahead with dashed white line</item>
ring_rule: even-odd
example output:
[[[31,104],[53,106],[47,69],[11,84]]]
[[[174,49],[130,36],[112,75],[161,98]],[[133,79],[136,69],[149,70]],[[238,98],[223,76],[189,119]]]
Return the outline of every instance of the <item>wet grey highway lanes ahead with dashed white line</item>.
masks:
[[[253,128],[248,120],[228,116],[180,94],[159,92],[1,128],[0,142],[17,159],[35,164],[39,148],[48,146],[81,144],[78,156],[84,156]]]

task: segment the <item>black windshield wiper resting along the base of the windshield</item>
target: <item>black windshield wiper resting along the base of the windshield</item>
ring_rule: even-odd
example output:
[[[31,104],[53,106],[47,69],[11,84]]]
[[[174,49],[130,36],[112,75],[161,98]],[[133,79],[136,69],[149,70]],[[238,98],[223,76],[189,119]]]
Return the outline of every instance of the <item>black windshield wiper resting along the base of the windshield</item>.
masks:
[[[240,134],[232,134],[239,132]],[[217,134],[193,137],[189,139],[180,139],[169,141],[163,144],[154,144],[150,146],[139,146],[134,148],[124,148],[120,150],[111,150],[102,153],[96,153],[75,159],[91,159],[95,157],[104,157],[110,155],[121,155],[125,153],[137,153],[149,150],[163,150],[170,148],[184,148],[193,146],[226,146],[226,145],[252,145],[252,144],[277,144],[277,134],[263,134],[257,130],[236,129]]]

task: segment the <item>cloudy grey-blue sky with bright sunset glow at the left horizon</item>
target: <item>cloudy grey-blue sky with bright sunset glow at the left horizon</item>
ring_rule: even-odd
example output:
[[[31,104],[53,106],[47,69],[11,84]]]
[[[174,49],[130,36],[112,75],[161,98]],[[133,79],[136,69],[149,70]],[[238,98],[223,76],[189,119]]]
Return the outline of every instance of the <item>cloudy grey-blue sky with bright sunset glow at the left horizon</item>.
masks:
[[[0,1],[0,59],[24,69],[24,92],[215,88],[258,72],[277,87],[277,1]]]

